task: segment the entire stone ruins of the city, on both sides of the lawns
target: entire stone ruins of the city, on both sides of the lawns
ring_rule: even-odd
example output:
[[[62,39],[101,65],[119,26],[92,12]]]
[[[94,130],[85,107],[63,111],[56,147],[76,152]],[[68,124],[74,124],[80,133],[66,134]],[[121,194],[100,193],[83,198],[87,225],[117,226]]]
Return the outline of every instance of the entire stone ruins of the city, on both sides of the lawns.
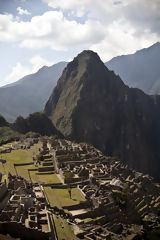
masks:
[[[77,187],[85,199],[53,211],[73,226],[77,237],[144,239],[148,230],[160,227],[160,186],[150,176],[129,169],[86,143],[64,139],[45,139],[42,143],[63,179],[61,187]],[[43,161],[41,164],[46,167]],[[50,167],[51,163],[47,164]],[[70,173],[67,179],[66,173]],[[0,184],[0,201],[0,232],[23,239],[56,239],[50,214],[54,209],[48,208],[42,186],[9,175],[8,183]]]

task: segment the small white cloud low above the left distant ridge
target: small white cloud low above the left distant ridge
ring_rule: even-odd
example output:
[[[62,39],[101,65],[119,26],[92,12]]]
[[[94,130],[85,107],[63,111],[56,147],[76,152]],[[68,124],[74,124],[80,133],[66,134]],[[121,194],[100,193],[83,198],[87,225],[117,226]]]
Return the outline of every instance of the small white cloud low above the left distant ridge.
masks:
[[[50,62],[38,55],[30,58],[29,63],[31,64],[31,66],[25,66],[22,65],[20,62],[17,62],[16,65],[12,67],[10,74],[6,76],[3,85],[13,83],[28,74],[35,73],[43,66],[51,66],[54,64],[54,62]]]

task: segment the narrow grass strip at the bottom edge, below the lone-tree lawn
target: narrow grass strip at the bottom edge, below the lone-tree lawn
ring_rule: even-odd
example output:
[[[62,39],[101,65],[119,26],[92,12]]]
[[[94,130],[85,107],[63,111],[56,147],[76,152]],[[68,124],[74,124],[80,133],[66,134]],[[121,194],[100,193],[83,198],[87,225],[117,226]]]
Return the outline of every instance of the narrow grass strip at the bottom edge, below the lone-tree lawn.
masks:
[[[58,240],[78,240],[74,235],[74,232],[72,230],[72,227],[68,225],[62,218],[57,218],[55,215],[53,215],[56,231],[57,231],[57,236]]]

